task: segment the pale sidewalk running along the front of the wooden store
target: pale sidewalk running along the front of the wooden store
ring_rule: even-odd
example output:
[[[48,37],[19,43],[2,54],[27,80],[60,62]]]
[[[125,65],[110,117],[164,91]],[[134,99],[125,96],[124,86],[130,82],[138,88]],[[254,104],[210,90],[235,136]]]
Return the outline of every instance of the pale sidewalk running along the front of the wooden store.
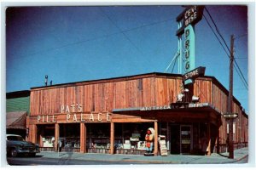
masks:
[[[41,152],[37,156],[48,158],[65,158],[89,161],[139,161],[144,163],[163,163],[163,164],[223,164],[236,163],[248,155],[248,149],[242,148],[234,151],[234,159],[229,159],[229,153],[212,156],[190,156],[190,155],[169,155],[169,156],[137,156],[137,155],[109,155],[93,153],[75,153],[75,152]]]

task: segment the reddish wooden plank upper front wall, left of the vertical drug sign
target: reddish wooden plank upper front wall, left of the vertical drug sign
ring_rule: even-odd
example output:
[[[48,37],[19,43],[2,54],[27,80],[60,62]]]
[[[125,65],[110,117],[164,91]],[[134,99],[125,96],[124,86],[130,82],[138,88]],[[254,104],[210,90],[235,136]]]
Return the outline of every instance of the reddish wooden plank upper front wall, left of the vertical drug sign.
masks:
[[[31,116],[61,113],[61,105],[83,105],[83,112],[169,105],[180,93],[181,79],[139,78],[61,88],[32,89]]]

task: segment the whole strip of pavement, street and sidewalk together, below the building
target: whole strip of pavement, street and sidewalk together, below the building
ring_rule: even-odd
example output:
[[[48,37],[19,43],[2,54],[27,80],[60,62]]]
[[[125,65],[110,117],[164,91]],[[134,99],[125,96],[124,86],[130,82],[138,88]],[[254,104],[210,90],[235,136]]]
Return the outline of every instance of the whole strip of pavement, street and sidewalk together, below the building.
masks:
[[[212,156],[170,155],[170,156],[134,156],[109,154],[82,154],[73,152],[41,152],[36,157],[8,158],[10,165],[113,165],[113,164],[227,164],[247,163],[248,150],[234,151],[234,159],[229,153]]]

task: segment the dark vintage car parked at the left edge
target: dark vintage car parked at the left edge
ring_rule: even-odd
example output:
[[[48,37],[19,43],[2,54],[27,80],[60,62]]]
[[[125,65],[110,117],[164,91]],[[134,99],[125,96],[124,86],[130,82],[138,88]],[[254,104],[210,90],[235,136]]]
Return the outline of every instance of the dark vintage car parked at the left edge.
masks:
[[[27,142],[17,134],[6,135],[6,151],[7,156],[12,157],[18,156],[18,154],[36,156],[36,153],[40,152],[38,144]]]

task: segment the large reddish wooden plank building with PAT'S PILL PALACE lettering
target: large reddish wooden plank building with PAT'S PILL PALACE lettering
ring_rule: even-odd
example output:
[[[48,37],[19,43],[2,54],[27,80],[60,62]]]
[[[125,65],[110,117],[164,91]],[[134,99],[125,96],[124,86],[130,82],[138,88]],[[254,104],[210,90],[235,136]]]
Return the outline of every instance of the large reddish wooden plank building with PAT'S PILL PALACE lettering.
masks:
[[[144,136],[165,135],[171,154],[226,150],[229,92],[214,77],[198,77],[188,87],[186,105],[177,102],[182,76],[148,73],[31,89],[28,139],[42,150],[143,154]],[[193,103],[191,97],[200,98]],[[248,117],[233,98],[236,147],[247,145]],[[159,144],[154,138],[154,155]]]

